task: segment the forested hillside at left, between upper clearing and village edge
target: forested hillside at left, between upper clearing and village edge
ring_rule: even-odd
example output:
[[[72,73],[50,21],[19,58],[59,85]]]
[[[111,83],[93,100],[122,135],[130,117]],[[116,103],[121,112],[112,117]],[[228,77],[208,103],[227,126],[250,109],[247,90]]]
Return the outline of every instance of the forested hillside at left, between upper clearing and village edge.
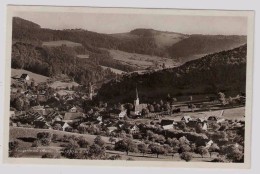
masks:
[[[72,48],[38,47],[16,42],[12,46],[12,68],[25,69],[48,77],[67,74],[82,84],[112,78],[114,73],[103,70],[90,59],[76,59]]]

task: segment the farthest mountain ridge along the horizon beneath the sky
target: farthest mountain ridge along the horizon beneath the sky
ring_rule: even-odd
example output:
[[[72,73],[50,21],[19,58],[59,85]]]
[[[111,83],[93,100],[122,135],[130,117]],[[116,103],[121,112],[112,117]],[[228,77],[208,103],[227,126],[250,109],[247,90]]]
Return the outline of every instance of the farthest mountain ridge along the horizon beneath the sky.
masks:
[[[44,41],[68,40],[82,44],[91,52],[107,48],[169,57],[180,62],[246,44],[246,36],[186,35],[142,28],[118,34],[101,34],[83,29],[51,30],[18,17],[13,18],[13,29],[13,39],[18,41],[31,40],[41,44]]]

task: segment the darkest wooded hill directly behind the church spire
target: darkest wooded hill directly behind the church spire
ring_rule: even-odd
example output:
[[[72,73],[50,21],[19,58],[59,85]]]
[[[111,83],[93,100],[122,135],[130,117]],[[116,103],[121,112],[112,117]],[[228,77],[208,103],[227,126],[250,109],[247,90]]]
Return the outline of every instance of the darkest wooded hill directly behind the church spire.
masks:
[[[98,99],[132,102],[135,88],[143,102],[171,96],[208,95],[223,91],[227,95],[245,92],[247,46],[204,56],[171,69],[131,74],[104,84]]]

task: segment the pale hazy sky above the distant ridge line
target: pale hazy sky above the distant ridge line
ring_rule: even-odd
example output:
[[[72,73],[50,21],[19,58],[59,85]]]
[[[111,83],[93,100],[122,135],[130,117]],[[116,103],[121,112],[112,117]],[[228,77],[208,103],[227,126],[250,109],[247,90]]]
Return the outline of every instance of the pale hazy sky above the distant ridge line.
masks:
[[[125,33],[150,28],[183,34],[246,35],[247,18],[232,16],[178,16],[151,14],[102,14],[62,12],[17,12],[17,17],[42,28],[81,28],[98,33]]]

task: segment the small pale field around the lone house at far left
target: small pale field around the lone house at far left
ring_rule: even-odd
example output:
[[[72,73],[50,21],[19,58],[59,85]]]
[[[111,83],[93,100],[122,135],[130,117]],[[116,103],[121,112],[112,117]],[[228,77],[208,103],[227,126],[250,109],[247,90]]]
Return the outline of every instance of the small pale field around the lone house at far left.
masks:
[[[30,76],[30,80],[34,79],[34,81],[36,83],[47,82],[47,79],[49,79],[49,77],[35,74],[35,73],[32,73],[32,72],[24,70],[24,69],[12,69],[11,70],[11,77],[19,78],[22,74],[28,74]]]

